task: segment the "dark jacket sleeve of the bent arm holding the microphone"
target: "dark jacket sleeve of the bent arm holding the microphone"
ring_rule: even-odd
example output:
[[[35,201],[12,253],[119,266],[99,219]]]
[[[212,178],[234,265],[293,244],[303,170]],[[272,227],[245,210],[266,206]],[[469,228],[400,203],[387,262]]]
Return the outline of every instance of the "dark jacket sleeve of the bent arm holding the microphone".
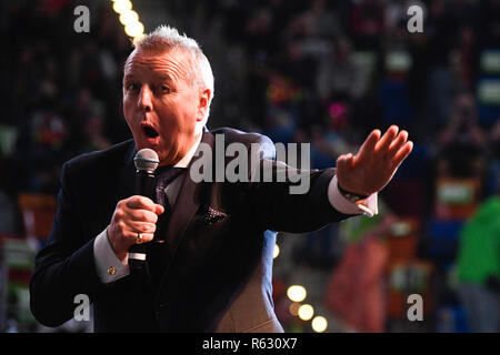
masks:
[[[90,301],[106,290],[96,271],[93,242],[87,241],[71,187],[71,162],[62,166],[58,210],[47,245],[36,257],[30,281],[30,307],[47,326],[58,326],[74,315],[84,294]]]

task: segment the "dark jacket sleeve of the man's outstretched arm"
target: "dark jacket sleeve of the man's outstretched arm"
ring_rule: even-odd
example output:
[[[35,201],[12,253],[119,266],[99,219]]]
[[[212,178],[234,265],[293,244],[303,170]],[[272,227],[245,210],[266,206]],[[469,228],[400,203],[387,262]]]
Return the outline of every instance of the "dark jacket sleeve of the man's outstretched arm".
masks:
[[[351,216],[336,210],[329,201],[328,189],[334,169],[296,170],[276,160],[269,138],[261,135],[260,143],[260,178],[256,181],[257,174],[252,170],[244,195],[249,213],[257,216],[261,229],[306,233]],[[266,181],[266,170],[272,176],[270,182]],[[287,171],[286,179],[283,171]],[[303,180],[288,179],[289,172],[298,173]]]

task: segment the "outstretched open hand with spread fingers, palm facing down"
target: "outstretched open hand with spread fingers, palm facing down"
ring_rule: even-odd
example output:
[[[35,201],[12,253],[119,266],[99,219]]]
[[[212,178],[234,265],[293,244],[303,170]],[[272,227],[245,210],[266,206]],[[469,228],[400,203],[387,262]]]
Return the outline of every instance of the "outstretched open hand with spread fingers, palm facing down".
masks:
[[[381,136],[372,131],[358,154],[342,154],[337,159],[337,181],[344,190],[361,195],[379,192],[391,181],[399,165],[410,154],[413,142],[408,132],[391,125]]]

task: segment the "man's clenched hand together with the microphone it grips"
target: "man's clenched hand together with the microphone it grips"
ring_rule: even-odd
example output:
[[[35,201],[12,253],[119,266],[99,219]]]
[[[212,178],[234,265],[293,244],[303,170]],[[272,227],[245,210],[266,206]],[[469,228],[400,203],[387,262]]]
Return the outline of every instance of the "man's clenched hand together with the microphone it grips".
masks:
[[[140,150],[134,159],[137,168],[136,195],[118,202],[108,237],[119,260],[129,254],[129,265],[146,261],[142,243],[151,242],[157,229],[158,215],[164,212],[161,204],[156,204],[151,197],[154,190],[154,170],[158,166],[158,155],[150,149]],[[130,264],[132,261],[132,264]]]

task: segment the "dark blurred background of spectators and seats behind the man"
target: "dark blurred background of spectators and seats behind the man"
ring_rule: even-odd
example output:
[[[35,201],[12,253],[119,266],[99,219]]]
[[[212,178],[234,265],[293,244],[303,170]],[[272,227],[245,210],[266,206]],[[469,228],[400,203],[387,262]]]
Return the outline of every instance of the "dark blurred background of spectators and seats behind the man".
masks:
[[[312,332],[290,313],[291,284],[308,290],[302,303],[327,332],[486,331],[472,321],[484,312],[468,306],[481,298],[463,290],[498,301],[500,1],[132,2],[146,31],[174,26],[206,52],[209,129],[309,142],[316,169],[376,128],[398,124],[414,142],[377,217],[279,235],[274,301],[287,331]],[[73,30],[79,4],[89,33]],[[411,4],[423,9],[422,33],[407,29]],[[32,255],[50,231],[62,163],[131,138],[121,79],[132,47],[104,0],[2,1],[0,33],[0,331],[44,332],[27,308]],[[483,206],[492,214],[473,224]],[[470,263],[484,250],[488,265]],[[423,321],[408,320],[409,294],[422,295]]]

